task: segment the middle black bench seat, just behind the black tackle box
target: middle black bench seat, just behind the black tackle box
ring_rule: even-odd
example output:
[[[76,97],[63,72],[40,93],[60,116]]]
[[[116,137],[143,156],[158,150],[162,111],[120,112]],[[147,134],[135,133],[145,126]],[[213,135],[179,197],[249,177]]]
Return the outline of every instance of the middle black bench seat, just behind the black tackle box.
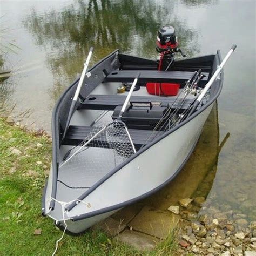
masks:
[[[89,95],[82,104],[80,104],[79,109],[92,109],[92,110],[114,110],[118,105],[123,105],[126,96],[123,95]],[[176,98],[171,97],[160,97],[160,96],[131,96],[130,102],[140,102],[149,103],[152,105],[167,106],[172,105]],[[181,99],[182,100],[182,99]],[[186,109],[194,99],[185,99],[181,110]],[[179,104],[180,100],[177,100],[173,104],[175,108]]]

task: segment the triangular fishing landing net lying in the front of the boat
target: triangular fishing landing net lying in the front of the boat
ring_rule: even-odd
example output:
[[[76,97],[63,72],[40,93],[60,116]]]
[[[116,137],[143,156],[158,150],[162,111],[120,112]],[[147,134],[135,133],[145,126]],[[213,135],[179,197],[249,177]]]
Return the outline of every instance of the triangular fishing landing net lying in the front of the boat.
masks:
[[[82,172],[86,172],[86,177],[80,176],[81,179],[76,181],[76,185],[91,186],[135,152],[126,125],[120,120],[115,120],[105,126],[93,127],[83,142],[73,147],[65,157],[59,170],[72,171],[73,174],[78,175],[77,177]],[[83,177],[86,180],[83,180]],[[72,181],[69,180],[70,183]]]

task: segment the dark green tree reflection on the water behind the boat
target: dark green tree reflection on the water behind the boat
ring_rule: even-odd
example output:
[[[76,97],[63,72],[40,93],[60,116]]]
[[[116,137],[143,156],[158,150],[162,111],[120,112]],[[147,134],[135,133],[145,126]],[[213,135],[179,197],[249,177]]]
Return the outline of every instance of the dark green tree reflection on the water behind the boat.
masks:
[[[97,62],[119,48],[132,55],[156,58],[157,30],[172,24],[180,47],[188,57],[199,52],[199,32],[194,31],[173,13],[154,1],[74,1],[61,10],[38,13],[32,9],[23,25],[36,44],[48,49],[47,65],[54,84],[50,89],[53,102],[82,70],[87,50],[95,48],[92,62]]]

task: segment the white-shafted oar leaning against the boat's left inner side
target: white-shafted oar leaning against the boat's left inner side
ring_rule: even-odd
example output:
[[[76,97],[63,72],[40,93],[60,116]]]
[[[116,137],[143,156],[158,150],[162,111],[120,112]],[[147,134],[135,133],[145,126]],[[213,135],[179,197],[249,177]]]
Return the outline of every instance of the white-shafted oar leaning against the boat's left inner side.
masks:
[[[87,68],[88,68],[88,65],[89,65],[89,62],[90,62],[90,59],[91,59],[91,56],[92,56],[92,51],[93,51],[93,47],[90,48],[87,59],[84,63],[84,69],[83,69],[82,75],[79,79],[79,82],[78,82],[78,85],[77,85],[77,90],[75,92],[75,95],[73,97],[73,100],[72,100],[72,103],[71,103],[71,106],[70,106],[68,118],[66,119],[66,126],[65,126],[65,129],[64,129],[63,137],[62,137],[63,139],[66,136],[66,132],[68,131],[69,123],[70,123],[73,111],[75,110],[75,107],[76,107],[77,99],[79,97],[79,93],[80,93],[80,90],[81,90],[83,82],[84,82],[84,77],[87,73]]]

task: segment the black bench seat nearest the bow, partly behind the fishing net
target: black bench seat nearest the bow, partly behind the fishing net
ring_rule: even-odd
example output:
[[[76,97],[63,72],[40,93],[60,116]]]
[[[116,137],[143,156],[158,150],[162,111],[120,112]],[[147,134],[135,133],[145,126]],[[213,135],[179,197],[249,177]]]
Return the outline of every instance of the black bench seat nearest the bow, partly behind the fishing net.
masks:
[[[63,145],[79,145],[90,134],[92,130],[93,126],[69,126]],[[157,131],[156,135],[152,135],[150,137],[150,135],[152,134],[152,131],[150,130],[129,129],[129,132],[132,138],[132,142],[136,147],[136,150],[139,150],[140,147],[145,143],[149,144],[154,138],[159,137],[161,134],[164,133],[162,131]],[[98,147],[102,145],[104,145],[104,142],[99,142]]]

